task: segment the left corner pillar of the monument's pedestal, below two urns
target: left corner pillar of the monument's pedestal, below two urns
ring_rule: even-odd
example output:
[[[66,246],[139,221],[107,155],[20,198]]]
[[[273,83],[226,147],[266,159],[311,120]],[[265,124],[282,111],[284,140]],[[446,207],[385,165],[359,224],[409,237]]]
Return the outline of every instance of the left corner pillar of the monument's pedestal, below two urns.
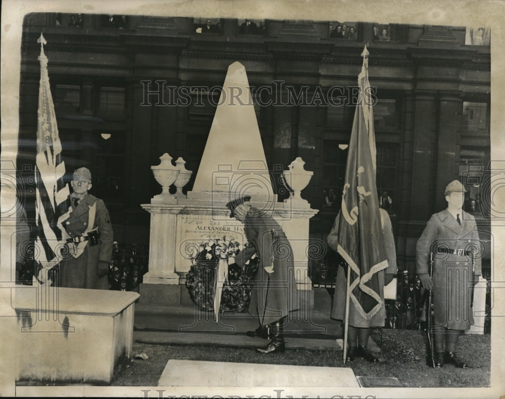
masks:
[[[144,204],[151,214],[149,234],[149,272],[144,284],[179,284],[175,273],[177,214],[182,207]]]

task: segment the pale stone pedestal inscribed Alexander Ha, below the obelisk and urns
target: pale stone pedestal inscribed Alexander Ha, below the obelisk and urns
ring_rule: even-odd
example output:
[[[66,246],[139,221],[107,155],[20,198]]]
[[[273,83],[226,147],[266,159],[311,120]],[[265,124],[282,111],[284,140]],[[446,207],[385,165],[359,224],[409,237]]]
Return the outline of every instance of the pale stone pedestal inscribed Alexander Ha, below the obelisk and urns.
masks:
[[[204,194],[204,193],[202,193]],[[209,198],[211,194],[207,193]],[[191,195],[188,195],[191,197]],[[174,197],[175,198],[175,197]],[[179,275],[191,267],[191,255],[199,244],[209,239],[235,239],[245,243],[243,224],[230,218],[225,199],[175,198],[175,204],[143,204],[150,212],[149,272],[143,284],[179,284]],[[251,201],[254,205],[254,201]],[[293,248],[295,277],[299,290],[311,290],[308,276],[309,219],[317,213],[305,202],[286,201],[267,205],[282,227]]]

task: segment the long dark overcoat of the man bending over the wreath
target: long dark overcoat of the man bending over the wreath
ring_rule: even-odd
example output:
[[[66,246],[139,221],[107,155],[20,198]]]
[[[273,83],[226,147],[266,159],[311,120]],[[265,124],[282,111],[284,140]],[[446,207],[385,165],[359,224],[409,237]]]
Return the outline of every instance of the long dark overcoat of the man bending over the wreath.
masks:
[[[260,255],[260,264],[249,302],[249,313],[261,325],[273,323],[298,308],[293,250],[279,224],[251,207],[244,220],[247,241]],[[272,230],[274,233],[272,233]],[[273,259],[273,273],[270,268]]]

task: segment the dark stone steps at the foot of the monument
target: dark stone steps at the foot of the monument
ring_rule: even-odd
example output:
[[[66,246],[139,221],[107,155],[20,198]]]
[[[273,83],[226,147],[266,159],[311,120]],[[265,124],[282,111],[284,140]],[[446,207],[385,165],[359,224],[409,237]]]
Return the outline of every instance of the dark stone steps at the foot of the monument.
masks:
[[[307,319],[307,318],[306,318]],[[340,323],[326,312],[314,311],[309,320],[288,320],[284,328],[287,348],[341,350]],[[250,338],[248,330],[258,327],[247,313],[221,314],[217,323],[212,313],[195,311],[192,306],[136,305],[133,339],[155,344],[209,344],[237,347],[264,346],[266,340]],[[369,348],[379,351],[370,339]]]

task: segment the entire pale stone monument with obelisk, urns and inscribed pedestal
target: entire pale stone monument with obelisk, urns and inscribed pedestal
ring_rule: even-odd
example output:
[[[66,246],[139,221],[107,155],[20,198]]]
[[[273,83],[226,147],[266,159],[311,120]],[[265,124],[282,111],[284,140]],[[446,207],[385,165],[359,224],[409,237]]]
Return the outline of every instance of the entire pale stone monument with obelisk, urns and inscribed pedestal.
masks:
[[[294,186],[300,176],[304,179],[309,176],[310,180],[312,172],[303,169],[300,158],[293,161],[285,176],[295,195],[277,202],[248,86],[244,66],[238,62],[231,64],[192,191],[187,196],[158,195],[150,204],[141,205],[151,214],[149,272],[140,287],[141,301],[143,297],[161,301],[178,297],[168,292],[177,290],[184,282],[191,265],[191,248],[195,245],[223,236],[245,242],[243,225],[229,217],[225,204],[246,194],[252,197],[254,206],[270,212],[282,226],[295,252],[297,287],[310,297],[309,219],[317,210],[299,196],[308,180],[299,189]],[[169,153],[171,149],[162,151]],[[166,179],[160,178],[160,168],[164,167],[153,166],[157,168],[157,180],[163,182],[164,193],[170,182],[177,179],[176,167],[170,164],[170,159],[168,154],[161,157],[161,164],[167,165]]]

